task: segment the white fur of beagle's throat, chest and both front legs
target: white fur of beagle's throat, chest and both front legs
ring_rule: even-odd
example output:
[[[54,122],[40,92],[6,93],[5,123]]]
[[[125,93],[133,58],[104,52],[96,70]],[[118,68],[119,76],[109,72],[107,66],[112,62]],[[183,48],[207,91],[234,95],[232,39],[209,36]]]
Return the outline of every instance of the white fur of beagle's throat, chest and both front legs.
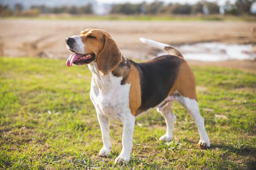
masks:
[[[109,119],[120,120],[124,124],[122,151],[115,159],[115,163],[127,163],[132,150],[132,137],[135,117],[129,108],[130,84],[121,85],[122,77],[109,75],[100,76],[96,63],[88,64],[92,71],[90,98],[97,110],[97,117],[101,126],[103,148],[100,156],[109,156],[112,146],[109,135]],[[100,88],[98,88],[98,86]]]

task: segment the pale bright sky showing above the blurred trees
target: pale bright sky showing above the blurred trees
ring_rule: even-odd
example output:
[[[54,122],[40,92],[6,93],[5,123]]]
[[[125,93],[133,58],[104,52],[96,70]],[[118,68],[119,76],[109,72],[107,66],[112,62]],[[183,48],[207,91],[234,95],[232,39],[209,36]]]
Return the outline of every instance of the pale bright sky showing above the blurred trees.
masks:
[[[135,3],[135,4],[138,4],[140,2],[148,2],[148,3],[151,3],[151,2],[154,2],[155,0],[97,0],[98,2],[100,3],[126,3],[126,2],[130,2],[130,3]],[[179,3],[179,4],[195,4],[196,2],[200,1],[200,0],[160,0],[160,1],[164,1],[166,4],[169,4],[169,3]],[[218,5],[224,5],[225,2],[227,0],[207,0],[208,2],[216,2],[217,1],[217,4]],[[231,3],[234,3],[236,2],[236,0],[229,0]]]

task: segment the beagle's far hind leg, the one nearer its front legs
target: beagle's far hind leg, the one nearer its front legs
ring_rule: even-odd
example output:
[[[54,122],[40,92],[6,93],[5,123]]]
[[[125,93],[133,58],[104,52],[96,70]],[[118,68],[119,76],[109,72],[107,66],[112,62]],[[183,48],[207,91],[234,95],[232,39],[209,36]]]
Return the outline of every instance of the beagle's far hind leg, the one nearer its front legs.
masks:
[[[171,141],[173,139],[173,128],[176,116],[171,110],[172,105],[173,101],[167,101],[162,106],[157,107],[157,111],[161,113],[166,123],[166,133],[159,138],[161,141]]]

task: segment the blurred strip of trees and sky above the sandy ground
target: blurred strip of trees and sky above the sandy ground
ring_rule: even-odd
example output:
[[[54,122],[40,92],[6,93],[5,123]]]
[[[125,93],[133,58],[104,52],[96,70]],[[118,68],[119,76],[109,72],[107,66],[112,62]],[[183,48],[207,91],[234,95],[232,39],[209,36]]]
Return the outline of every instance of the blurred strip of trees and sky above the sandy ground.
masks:
[[[255,14],[255,0],[1,0],[1,15]]]

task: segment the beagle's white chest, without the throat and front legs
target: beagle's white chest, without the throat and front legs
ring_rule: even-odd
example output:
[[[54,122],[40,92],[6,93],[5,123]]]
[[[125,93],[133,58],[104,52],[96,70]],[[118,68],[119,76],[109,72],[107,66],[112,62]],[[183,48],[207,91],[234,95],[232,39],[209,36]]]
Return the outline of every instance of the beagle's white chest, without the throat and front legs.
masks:
[[[94,107],[99,113],[111,119],[120,120],[130,113],[130,84],[121,85],[121,79],[122,77],[115,77],[110,74],[101,77],[100,81],[103,80],[104,83],[96,84],[97,80],[91,83],[90,97]]]

